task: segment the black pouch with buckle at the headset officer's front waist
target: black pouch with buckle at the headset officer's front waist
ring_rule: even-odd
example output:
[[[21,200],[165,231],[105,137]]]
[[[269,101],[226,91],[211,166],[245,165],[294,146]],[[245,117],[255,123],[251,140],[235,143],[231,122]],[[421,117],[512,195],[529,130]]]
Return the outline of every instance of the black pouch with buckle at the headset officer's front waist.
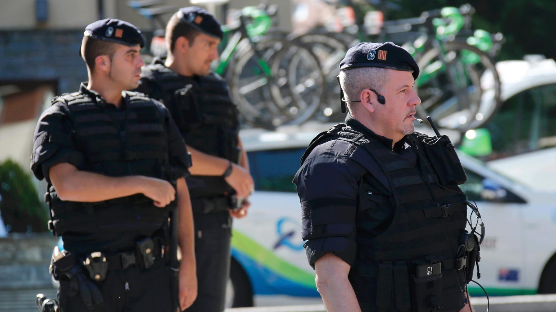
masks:
[[[442,268],[440,261],[414,261],[411,281],[411,307],[413,312],[440,311],[442,309]]]

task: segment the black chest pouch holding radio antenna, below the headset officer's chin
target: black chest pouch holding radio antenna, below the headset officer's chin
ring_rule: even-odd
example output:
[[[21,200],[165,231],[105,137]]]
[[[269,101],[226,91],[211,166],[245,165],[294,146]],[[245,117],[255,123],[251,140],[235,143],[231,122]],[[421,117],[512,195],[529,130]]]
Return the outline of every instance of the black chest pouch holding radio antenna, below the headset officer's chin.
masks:
[[[455,187],[465,183],[467,175],[461,167],[454,143],[451,143],[446,135],[441,135],[440,138],[426,138],[423,145],[441,185]]]

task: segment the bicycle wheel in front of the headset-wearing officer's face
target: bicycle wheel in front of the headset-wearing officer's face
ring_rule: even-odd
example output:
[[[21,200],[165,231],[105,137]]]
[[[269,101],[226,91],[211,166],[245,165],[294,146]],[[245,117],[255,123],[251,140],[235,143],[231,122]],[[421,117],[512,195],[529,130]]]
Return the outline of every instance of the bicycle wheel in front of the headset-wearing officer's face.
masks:
[[[416,89],[421,104],[416,107],[416,112],[420,118],[431,116],[443,128],[463,132],[480,127],[492,117],[501,102],[500,79],[494,62],[488,54],[466,43],[448,42],[444,48],[444,59],[439,58],[439,51],[435,48],[417,59],[421,74]],[[469,52],[477,54],[480,61],[475,64],[464,62],[465,54]],[[481,77],[486,72],[490,72],[493,78],[490,89],[481,86]],[[492,93],[494,102],[485,108],[482,99]]]

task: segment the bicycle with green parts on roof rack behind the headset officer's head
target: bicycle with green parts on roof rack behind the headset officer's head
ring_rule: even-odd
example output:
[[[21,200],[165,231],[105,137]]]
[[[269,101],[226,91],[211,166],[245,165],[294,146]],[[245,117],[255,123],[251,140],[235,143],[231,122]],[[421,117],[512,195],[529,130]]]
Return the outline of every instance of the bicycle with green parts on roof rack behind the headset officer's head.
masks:
[[[471,29],[471,17],[475,12],[469,4],[459,8],[445,7],[423,12],[416,18],[384,21],[381,11],[354,9],[351,0],[330,2],[336,7],[344,6],[342,13],[352,16],[353,24],[347,24],[341,33],[316,28],[307,33],[304,43],[311,44],[310,38],[318,38],[320,46],[330,51],[320,56],[321,63],[337,66],[342,54],[350,46],[363,41],[394,41],[406,48],[416,59],[421,74],[416,80],[416,88],[423,102],[417,107],[421,118],[427,115],[438,120],[445,128],[465,131],[479,127],[489,120],[500,105],[500,80],[496,72],[493,57],[499,51],[504,37],[497,33],[491,35],[480,29]],[[381,10],[386,7],[395,9],[395,1],[373,1]],[[341,48],[342,43],[345,49]],[[325,49],[320,49],[325,51]],[[322,61],[324,59],[325,61]],[[323,68],[325,74],[326,67]],[[493,77],[492,86],[481,85],[481,77],[486,74]],[[329,75],[332,76],[332,75]],[[327,78],[329,78],[327,76]],[[339,89],[332,88],[327,79],[328,103],[323,103],[322,112],[339,111],[339,104],[331,99],[339,97]],[[480,109],[481,99],[487,93],[494,93],[494,108]],[[488,112],[486,115],[479,111]],[[326,113],[325,113],[326,115]],[[331,118],[337,118],[337,113]],[[317,115],[317,118],[321,115]]]

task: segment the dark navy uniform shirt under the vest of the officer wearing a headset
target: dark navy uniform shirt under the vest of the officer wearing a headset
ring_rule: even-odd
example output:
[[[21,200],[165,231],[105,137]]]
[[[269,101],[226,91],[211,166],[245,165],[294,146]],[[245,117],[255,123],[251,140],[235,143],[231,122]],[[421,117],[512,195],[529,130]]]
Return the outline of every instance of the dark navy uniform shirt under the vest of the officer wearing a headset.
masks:
[[[349,114],[346,125],[367,138],[392,147],[391,139],[375,134]],[[416,154],[406,140],[407,137],[404,137],[397,142],[393,150],[415,165]],[[307,156],[294,178],[303,210],[302,237],[307,239],[305,251],[313,267],[315,261],[327,253],[335,254],[353,265],[357,249],[355,233],[361,221],[357,220],[356,214],[362,179],[367,180],[364,191],[380,202],[380,209],[372,214],[373,218],[364,220],[365,228],[374,229],[369,234],[376,236],[384,232],[394,216],[394,200],[384,172],[370,154],[365,167],[351,159],[351,154],[345,153],[350,145],[344,140],[325,140]],[[369,172],[368,168],[373,170]],[[317,209],[326,213],[311,213]],[[326,230],[320,230],[322,225],[326,226]]]

